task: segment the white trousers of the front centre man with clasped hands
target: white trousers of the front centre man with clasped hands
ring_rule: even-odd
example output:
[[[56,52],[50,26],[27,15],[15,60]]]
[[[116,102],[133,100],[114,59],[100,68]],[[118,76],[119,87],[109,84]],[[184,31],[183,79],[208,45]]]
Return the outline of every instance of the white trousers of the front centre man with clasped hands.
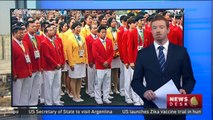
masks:
[[[110,92],[111,69],[97,69],[96,73],[95,100],[101,100],[101,91],[103,91],[103,100],[107,100]]]

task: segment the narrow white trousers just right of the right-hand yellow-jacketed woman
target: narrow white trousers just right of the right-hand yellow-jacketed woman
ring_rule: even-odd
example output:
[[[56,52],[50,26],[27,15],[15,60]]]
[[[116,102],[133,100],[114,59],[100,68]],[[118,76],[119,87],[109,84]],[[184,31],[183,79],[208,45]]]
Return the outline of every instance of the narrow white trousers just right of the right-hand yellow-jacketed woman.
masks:
[[[120,66],[120,86],[119,86],[119,90],[121,93],[124,93],[124,86],[125,86],[125,74],[124,74],[124,69],[125,69],[125,65],[123,63],[121,63]]]

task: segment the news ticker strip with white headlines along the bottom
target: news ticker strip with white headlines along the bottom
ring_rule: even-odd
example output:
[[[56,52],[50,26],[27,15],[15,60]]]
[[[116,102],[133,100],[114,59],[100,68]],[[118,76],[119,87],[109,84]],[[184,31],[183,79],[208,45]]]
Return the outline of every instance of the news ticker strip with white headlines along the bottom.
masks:
[[[2,114],[22,115],[177,115],[177,114],[202,114],[202,109],[19,109],[13,111],[0,111]]]

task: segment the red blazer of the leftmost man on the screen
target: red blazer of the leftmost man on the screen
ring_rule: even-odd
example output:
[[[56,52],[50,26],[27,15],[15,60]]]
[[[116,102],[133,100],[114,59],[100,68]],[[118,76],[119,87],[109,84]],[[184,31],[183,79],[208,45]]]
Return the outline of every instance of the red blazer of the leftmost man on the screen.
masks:
[[[23,45],[26,54],[29,54],[27,43],[23,41]],[[12,41],[12,73],[17,78],[32,76],[32,64],[26,62],[25,53],[15,40]]]

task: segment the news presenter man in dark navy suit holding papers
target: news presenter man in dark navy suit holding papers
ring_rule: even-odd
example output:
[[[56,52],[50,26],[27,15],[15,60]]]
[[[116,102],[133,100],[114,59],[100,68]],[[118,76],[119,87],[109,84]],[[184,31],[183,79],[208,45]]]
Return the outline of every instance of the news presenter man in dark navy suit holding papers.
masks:
[[[151,23],[154,44],[138,52],[131,86],[144,100],[144,108],[158,108],[152,101],[154,91],[173,80],[181,94],[192,92],[195,79],[185,48],[168,41],[169,23],[156,15]],[[143,84],[145,77],[146,85]],[[182,81],[181,81],[182,77]],[[185,120],[185,115],[145,115],[146,120]]]

